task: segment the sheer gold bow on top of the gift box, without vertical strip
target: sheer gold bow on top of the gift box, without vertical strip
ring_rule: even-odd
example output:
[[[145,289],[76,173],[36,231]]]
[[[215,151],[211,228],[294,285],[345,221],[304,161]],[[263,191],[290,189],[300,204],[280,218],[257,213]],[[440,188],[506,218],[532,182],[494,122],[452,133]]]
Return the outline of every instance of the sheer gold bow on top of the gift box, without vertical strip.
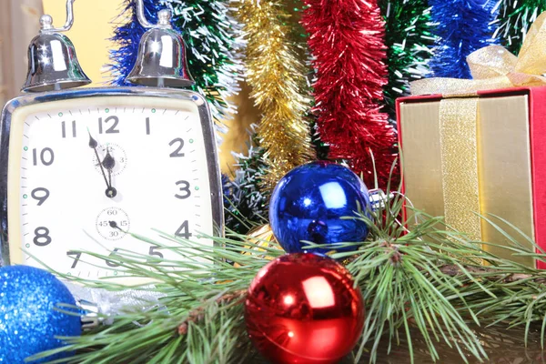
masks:
[[[467,57],[473,79],[435,77],[411,83],[412,95],[470,94],[517,86],[546,86],[546,12],[525,36],[520,56],[501,45],[483,47]]]

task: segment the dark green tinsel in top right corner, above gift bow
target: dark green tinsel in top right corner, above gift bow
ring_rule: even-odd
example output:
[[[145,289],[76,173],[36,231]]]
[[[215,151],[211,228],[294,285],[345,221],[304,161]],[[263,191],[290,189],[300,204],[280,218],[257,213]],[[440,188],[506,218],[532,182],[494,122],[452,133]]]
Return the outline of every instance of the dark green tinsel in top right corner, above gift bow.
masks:
[[[546,10],[545,0],[501,0],[496,38],[518,55],[527,31],[538,15]]]

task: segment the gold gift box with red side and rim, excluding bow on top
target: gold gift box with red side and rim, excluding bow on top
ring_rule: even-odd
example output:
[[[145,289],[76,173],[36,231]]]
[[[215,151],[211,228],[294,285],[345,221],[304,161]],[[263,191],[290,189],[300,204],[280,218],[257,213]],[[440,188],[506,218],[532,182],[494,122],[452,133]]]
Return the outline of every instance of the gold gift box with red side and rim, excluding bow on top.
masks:
[[[403,188],[416,208],[445,216],[470,238],[510,244],[476,215],[492,214],[546,249],[546,87],[410,96],[399,98],[397,107]],[[497,222],[532,248],[514,228]],[[504,248],[484,248],[546,268]]]

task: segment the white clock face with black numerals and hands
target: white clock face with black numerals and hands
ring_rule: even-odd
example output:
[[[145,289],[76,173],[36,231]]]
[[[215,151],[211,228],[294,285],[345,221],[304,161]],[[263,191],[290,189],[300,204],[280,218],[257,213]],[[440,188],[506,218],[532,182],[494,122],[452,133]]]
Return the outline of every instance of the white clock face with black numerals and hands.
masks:
[[[8,177],[12,256],[80,278],[124,276],[115,255],[175,258],[169,235],[212,245],[207,140],[197,107],[158,97],[49,102],[14,117]],[[18,134],[20,133],[20,136]],[[19,150],[15,150],[18,148]],[[18,153],[20,152],[20,153]],[[210,158],[208,158],[210,159]],[[211,197],[215,196],[215,197]],[[16,241],[17,247],[14,242]],[[13,260],[13,257],[12,257]]]

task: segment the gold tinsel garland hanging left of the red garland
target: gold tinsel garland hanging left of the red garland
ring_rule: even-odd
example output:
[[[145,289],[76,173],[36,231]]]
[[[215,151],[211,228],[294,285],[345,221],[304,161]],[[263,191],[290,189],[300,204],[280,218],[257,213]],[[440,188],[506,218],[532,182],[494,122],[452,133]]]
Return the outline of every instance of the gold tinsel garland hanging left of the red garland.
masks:
[[[307,67],[290,40],[289,15],[278,1],[239,0],[238,17],[247,44],[247,82],[258,106],[260,146],[266,149],[264,189],[288,170],[313,158],[306,113],[310,96]]]

